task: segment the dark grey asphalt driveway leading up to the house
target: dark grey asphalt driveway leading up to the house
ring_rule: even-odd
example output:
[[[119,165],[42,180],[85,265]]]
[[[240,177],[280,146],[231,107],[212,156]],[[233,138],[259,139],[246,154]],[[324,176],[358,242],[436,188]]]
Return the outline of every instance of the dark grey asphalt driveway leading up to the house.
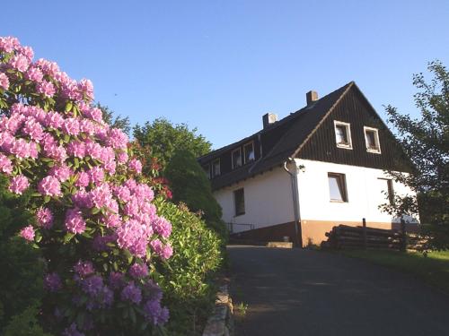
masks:
[[[449,335],[449,297],[411,276],[337,254],[228,246],[236,336]]]

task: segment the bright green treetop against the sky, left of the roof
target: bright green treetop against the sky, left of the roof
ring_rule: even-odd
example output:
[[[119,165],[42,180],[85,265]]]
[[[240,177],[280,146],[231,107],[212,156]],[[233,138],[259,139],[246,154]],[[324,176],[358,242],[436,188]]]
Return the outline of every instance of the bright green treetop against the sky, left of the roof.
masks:
[[[189,151],[196,158],[210,151],[211,143],[197,131],[197,128],[190,130],[186,124],[173,125],[161,117],[144,126],[136,125],[134,137],[141,146],[149,145],[152,155],[166,167],[175,151]]]

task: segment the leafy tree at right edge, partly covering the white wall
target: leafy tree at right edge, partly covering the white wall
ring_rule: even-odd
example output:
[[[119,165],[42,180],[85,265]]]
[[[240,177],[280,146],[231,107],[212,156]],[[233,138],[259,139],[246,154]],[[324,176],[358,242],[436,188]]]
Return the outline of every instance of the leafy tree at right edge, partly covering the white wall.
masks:
[[[439,61],[430,62],[433,75],[427,82],[423,73],[413,76],[418,89],[414,95],[420,112],[412,118],[388,105],[388,121],[396,138],[413,164],[411,174],[390,172],[397,181],[408,185],[418,196],[399,197],[390,207],[395,214],[419,210],[421,222],[428,224],[430,246],[449,247],[449,72]]]

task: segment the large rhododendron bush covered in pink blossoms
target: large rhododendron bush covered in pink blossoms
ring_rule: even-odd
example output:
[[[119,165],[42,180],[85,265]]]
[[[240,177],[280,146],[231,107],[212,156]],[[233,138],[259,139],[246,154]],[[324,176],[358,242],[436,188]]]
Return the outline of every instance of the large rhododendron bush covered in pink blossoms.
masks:
[[[151,333],[169,318],[150,278],[172,255],[172,225],[92,99],[90,81],[0,38],[0,173],[31,195],[19,234],[46,260],[43,321],[63,335]]]

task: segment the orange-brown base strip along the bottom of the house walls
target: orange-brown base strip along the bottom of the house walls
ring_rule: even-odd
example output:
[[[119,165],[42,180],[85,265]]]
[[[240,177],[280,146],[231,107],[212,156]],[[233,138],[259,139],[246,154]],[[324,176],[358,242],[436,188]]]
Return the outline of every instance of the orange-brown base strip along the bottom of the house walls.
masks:
[[[301,228],[303,232],[303,246],[320,245],[327,240],[326,232],[339,224],[357,227],[362,225],[362,221],[328,221],[328,220],[303,220]],[[401,229],[400,223],[388,222],[366,222],[369,228]],[[418,232],[418,224],[407,224],[407,232]],[[299,227],[298,227],[299,232]],[[289,241],[296,244],[295,222],[272,225],[265,228],[255,228],[249,231],[231,234],[231,239],[242,239],[255,242],[284,241],[284,237],[289,237]]]

